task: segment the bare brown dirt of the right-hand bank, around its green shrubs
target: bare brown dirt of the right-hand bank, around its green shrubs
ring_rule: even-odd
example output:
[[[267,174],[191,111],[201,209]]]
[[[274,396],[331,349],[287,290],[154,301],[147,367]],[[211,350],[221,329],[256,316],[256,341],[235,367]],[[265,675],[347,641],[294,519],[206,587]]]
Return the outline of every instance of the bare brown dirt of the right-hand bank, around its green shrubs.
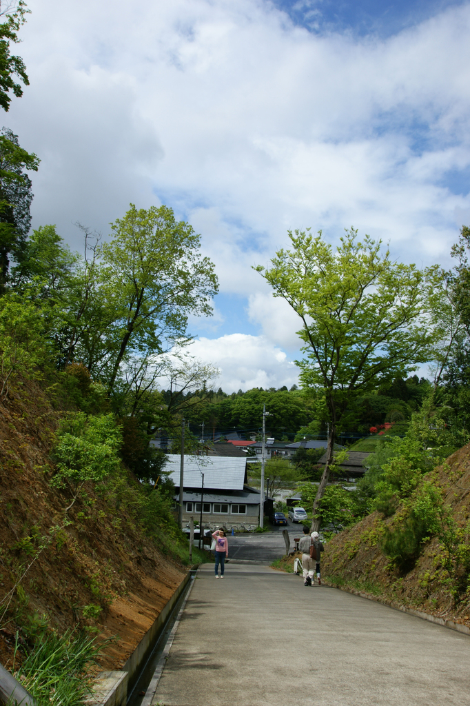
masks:
[[[442,489],[456,526],[464,527],[470,517],[470,444],[450,456],[429,479]],[[397,522],[396,517],[385,519],[373,513],[333,537],[325,548],[323,576],[337,585],[470,626],[470,590],[457,602],[452,597],[451,582],[442,567],[441,538],[423,544],[415,565],[400,571],[381,549],[385,527],[392,522]]]

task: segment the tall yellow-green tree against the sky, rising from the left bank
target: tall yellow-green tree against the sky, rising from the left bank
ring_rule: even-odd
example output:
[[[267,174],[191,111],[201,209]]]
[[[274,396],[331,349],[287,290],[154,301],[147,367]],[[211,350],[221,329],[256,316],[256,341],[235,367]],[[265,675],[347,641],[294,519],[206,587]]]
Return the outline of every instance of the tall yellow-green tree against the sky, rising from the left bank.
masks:
[[[200,256],[200,236],[177,222],[171,208],[137,210],[131,204],[112,231],[102,249],[102,290],[116,312],[107,332],[110,390],[129,350],[162,353],[189,340],[188,315],[210,316],[218,290],[213,263]]]

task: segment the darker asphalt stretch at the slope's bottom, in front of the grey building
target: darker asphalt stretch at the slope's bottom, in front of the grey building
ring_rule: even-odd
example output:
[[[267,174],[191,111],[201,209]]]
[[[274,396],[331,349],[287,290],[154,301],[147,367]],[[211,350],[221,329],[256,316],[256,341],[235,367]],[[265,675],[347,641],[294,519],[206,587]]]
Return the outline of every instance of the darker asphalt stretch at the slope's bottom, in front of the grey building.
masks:
[[[257,561],[263,564],[270,564],[273,559],[286,553],[286,545],[282,530],[286,527],[274,527],[272,532],[263,534],[229,534],[229,558],[232,560]],[[291,538],[291,551],[294,549],[294,537],[301,537],[299,525],[287,527]]]

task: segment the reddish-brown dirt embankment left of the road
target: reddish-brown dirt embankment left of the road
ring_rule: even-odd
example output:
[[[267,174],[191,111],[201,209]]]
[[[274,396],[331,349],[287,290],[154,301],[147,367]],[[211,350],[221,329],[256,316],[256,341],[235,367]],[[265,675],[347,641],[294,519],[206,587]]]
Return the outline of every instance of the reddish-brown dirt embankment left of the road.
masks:
[[[61,632],[88,626],[116,636],[100,666],[119,669],[187,568],[164,556],[126,503],[119,508],[106,493],[87,489],[88,501],[77,501],[71,524],[64,522],[70,498],[49,485],[58,419],[35,383],[0,402],[0,601],[29,566],[1,621],[0,662],[11,664],[17,625],[34,630],[46,615]]]

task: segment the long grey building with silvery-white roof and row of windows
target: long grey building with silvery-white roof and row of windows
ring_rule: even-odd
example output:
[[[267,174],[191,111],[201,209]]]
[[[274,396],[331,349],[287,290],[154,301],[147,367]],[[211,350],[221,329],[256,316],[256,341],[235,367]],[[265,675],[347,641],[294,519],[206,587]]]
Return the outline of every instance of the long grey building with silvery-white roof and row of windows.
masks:
[[[165,471],[175,484],[179,503],[181,456],[167,455]],[[203,486],[204,474],[204,486]],[[260,491],[247,484],[246,457],[185,455],[183,466],[183,523],[200,517],[203,524],[229,526],[237,522],[258,525]]]

